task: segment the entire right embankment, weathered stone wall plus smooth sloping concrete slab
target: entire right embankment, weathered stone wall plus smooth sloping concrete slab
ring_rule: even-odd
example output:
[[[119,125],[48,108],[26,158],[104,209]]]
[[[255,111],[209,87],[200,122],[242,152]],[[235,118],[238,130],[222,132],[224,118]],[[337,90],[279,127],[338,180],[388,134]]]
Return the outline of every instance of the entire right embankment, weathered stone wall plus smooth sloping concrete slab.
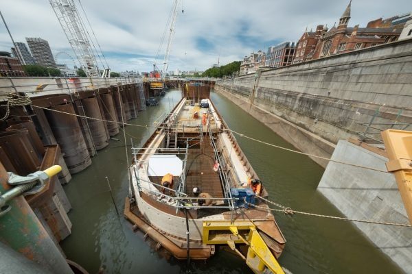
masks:
[[[412,130],[412,39],[225,79],[215,90],[301,151],[385,171],[385,151],[339,140],[382,147],[382,130]],[[327,166],[319,191],[345,216],[408,223],[393,175],[312,159]],[[410,227],[355,225],[411,273]]]

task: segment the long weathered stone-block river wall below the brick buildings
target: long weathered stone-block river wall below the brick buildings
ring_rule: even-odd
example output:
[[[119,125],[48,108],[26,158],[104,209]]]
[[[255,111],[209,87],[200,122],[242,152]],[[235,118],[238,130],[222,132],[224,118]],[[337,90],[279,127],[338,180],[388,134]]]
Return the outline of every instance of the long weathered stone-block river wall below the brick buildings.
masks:
[[[380,140],[370,121],[380,129],[412,123],[412,40],[226,79],[215,89],[335,144],[365,131]]]

